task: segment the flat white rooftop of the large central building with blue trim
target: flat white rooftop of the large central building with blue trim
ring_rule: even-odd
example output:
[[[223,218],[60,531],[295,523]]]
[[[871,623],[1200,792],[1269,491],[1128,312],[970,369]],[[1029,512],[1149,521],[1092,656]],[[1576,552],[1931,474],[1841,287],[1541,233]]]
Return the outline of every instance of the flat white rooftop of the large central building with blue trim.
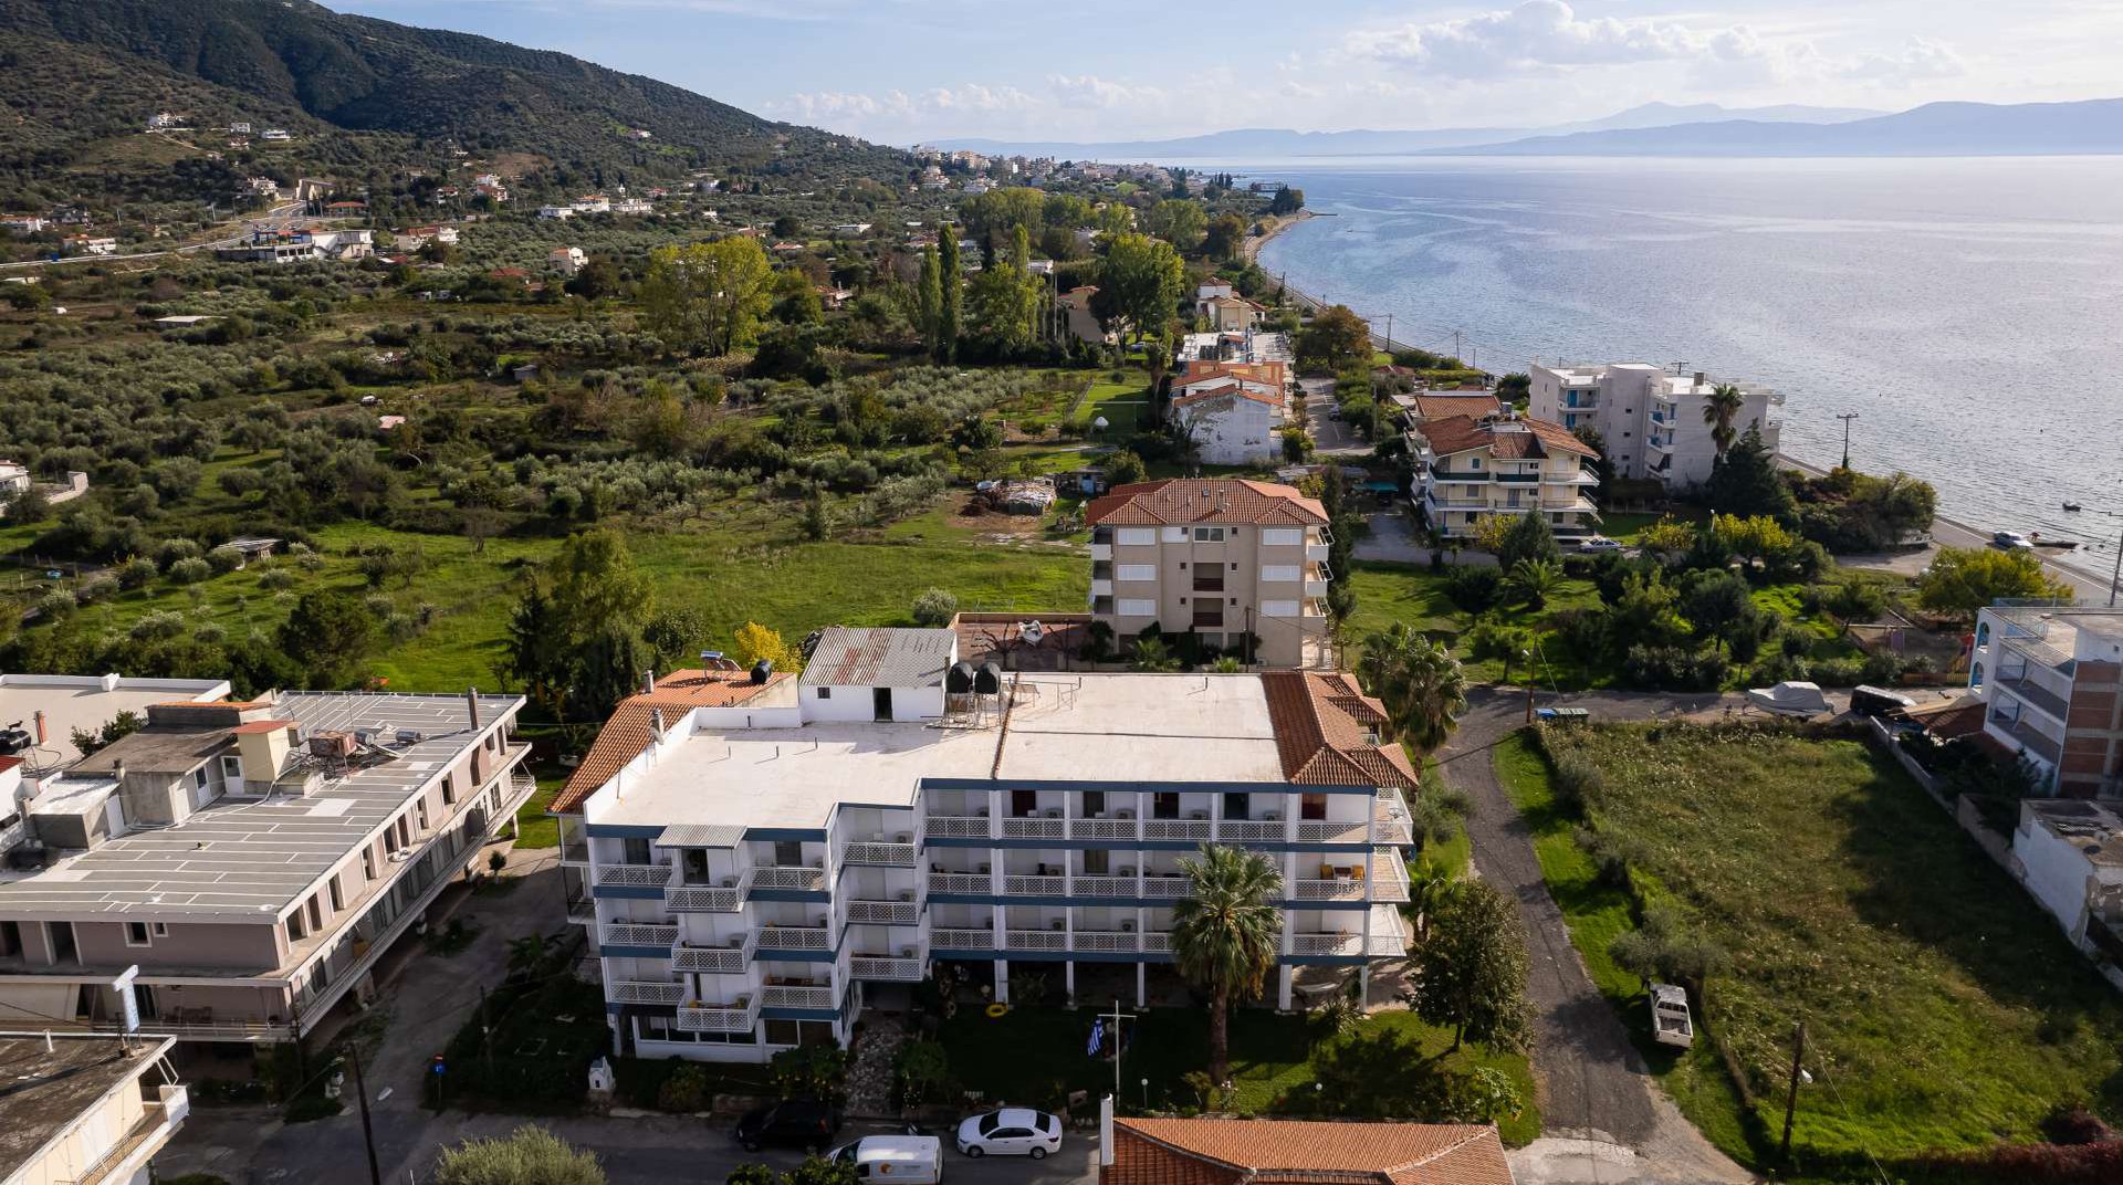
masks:
[[[819,828],[839,803],[911,805],[924,777],[1284,782],[1257,675],[1021,675],[1008,731],[707,728],[622,782],[599,824]],[[1000,758],[1000,760],[998,760]]]

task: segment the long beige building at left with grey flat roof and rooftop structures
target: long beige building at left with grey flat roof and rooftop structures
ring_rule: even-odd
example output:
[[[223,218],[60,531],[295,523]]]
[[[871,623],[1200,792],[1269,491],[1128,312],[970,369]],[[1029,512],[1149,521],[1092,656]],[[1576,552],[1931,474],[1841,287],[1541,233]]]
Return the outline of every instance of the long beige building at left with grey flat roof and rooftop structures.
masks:
[[[66,711],[93,720],[93,694]],[[367,994],[376,960],[514,826],[535,788],[518,773],[527,745],[507,739],[520,707],[357,692],[144,705],[136,733],[8,794],[0,1019],[113,1026],[138,968],[130,988],[157,1032],[301,1038]]]

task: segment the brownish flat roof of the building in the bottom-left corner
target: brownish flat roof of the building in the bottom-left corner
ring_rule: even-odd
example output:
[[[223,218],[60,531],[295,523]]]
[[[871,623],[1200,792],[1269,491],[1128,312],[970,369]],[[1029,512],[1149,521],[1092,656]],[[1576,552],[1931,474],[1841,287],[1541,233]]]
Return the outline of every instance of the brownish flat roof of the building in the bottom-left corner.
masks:
[[[8,1072],[0,1087],[0,1181],[15,1181],[45,1145],[96,1100],[153,1068],[168,1047],[168,1036],[0,1032],[0,1066]]]

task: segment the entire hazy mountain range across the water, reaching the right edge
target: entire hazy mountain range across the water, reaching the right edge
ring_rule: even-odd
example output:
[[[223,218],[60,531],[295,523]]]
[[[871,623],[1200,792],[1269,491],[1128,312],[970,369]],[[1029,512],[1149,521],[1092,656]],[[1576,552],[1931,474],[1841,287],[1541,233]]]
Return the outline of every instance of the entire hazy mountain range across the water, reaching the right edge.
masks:
[[[1238,130],[1121,144],[996,144],[974,151],[1100,159],[1274,159],[1361,155],[1480,157],[1977,157],[2123,153],[2123,100],[1934,102],[1902,113],[1826,106],[1645,104],[1556,127],[1431,132]]]

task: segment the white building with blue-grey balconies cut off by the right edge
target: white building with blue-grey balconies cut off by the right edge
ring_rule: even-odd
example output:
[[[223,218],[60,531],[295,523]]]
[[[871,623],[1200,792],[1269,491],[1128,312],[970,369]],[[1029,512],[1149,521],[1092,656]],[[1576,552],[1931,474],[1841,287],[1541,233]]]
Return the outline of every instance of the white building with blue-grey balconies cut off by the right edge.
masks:
[[[2066,798],[2123,798],[2123,609],[1991,605],[1977,614],[1968,690],[1983,735]]]

